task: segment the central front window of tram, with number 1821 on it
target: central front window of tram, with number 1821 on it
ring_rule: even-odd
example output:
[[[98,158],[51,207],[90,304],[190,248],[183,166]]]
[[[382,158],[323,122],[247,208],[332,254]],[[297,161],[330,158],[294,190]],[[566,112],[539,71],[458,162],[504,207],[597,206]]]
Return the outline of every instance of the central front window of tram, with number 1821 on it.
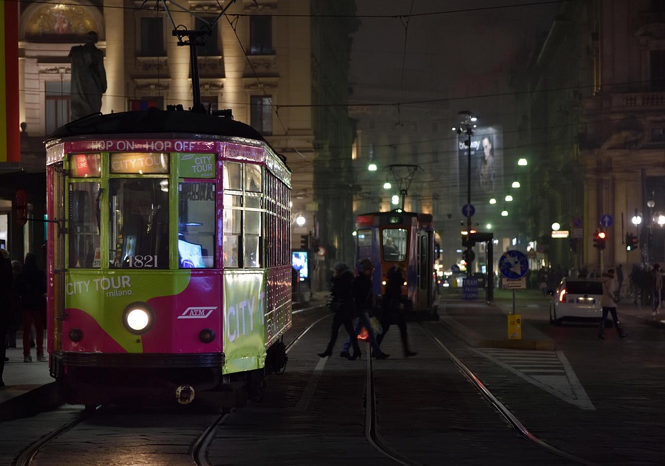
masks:
[[[168,180],[109,182],[109,267],[168,268]]]

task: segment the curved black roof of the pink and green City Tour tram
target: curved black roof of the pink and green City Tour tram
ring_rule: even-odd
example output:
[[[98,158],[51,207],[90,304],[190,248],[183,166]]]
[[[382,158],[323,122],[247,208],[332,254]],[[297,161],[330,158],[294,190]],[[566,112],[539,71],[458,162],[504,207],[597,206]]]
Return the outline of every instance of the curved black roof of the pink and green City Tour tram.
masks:
[[[140,112],[91,114],[57,128],[47,139],[84,135],[138,135],[177,133],[242,137],[267,144],[264,137],[247,123],[228,116],[151,108]]]

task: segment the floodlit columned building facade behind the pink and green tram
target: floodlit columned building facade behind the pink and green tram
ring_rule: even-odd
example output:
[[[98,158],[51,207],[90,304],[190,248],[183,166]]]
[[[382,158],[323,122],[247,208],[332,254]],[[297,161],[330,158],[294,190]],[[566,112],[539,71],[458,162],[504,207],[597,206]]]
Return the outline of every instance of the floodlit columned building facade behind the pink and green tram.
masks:
[[[346,101],[348,47],[339,50],[332,42],[348,41],[353,1],[328,6],[321,0],[238,0],[231,5],[204,0],[180,6],[188,11],[171,5],[167,13],[162,2],[130,0],[20,3],[21,163],[1,167],[0,191],[0,238],[12,257],[23,257],[44,243],[37,234],[41,223],[20,227],[11,221],[12,198],[16,189],[28,188],[31,215],[43,216],[42,141],[71,120],[68,55],[88,31],[97,33],[96,46],[105,56],[103,113],[192,107],[190,47],[180,46],[172,31],[174,26],[211,31],[205,45],[197,48],[202,104],[206,109],[231,109],[234,119],[259,130],[287,158],[294,171],[295,248],[301,235],[326,244],[342,236],[342,225],[330,221],[330,212],[323,210],[330,193],[317,193],[314,167],[321,159],[328,164],[351,159],[353,122],[344,106],[329,112],[314,104]],[[218,17],[227,6],[226,14]],[[312,13],[321,10],[332,13],[332,19],[313,19]],[[337,55],[334,60],[331,51]],[[332,153],[330,147],[335,148]],[[304,225],[294,222],[296,216],[305,218]],[[341,250],[347,247],[340,244]],[[334,260],[319,255],[314,264],[325,270]]]

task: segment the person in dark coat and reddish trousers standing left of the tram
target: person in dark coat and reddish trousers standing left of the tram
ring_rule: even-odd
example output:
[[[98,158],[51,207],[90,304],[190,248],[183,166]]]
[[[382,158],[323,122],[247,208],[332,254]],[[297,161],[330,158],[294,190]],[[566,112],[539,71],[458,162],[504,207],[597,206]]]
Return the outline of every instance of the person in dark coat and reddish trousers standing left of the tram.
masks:
[[[35,325],[37,361],[46,361],[44,356],[44,320],[46,318],[46,275],[37,267],[37,256],[26,254],[17,291],[23,302],[23,362],[33,362],[30,356],[30,327]]]

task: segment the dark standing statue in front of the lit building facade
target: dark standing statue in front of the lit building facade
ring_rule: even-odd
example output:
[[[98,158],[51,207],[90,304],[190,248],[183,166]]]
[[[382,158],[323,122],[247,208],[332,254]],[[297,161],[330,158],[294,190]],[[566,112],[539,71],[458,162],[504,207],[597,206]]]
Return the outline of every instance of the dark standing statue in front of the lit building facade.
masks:
[[[71,119],[77,120],[100,112],[106,92],[104,53],[95,44],[97,33],[85,35],[85,44],[73,46],[71,60]]]

